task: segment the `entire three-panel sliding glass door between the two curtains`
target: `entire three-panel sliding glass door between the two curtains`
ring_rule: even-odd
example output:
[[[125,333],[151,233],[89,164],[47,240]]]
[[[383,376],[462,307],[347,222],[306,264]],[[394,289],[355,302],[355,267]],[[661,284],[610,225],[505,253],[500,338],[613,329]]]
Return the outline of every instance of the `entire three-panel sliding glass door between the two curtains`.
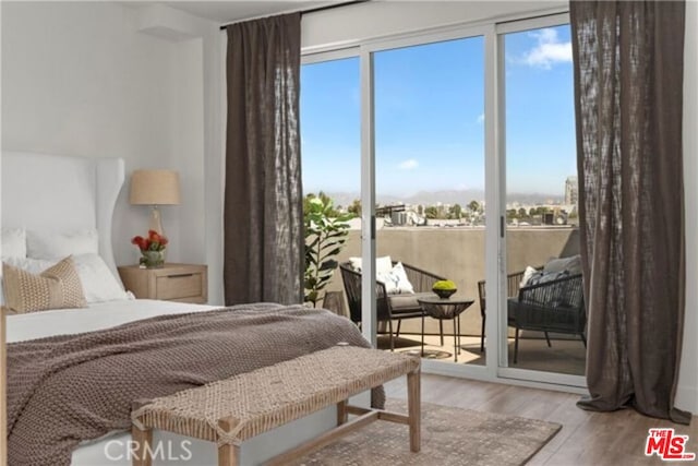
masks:
[[[337,259],[363,261],[358,284],[336,272],[326,290],[344,291],[342,312],[380,348],[421,354],[436,373],[582,386],[583,318],[514,310],[530,275],[576,274],[566,23],[450,27],[304,58],[304,189],[356,217]],[[429,302],[442,279],[456,295]],[[577,297],[544,307],[583,313]]]

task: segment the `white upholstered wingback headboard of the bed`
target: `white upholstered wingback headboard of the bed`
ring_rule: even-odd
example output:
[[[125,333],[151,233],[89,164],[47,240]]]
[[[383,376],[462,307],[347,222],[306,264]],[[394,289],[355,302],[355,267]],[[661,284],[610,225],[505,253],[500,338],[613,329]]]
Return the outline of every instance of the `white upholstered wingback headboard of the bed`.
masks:
[[[121,158],[3,152],[0,163],[3,228],[44,231],[97,228],[99,254],[119,279],[111,222],[124,179]]]

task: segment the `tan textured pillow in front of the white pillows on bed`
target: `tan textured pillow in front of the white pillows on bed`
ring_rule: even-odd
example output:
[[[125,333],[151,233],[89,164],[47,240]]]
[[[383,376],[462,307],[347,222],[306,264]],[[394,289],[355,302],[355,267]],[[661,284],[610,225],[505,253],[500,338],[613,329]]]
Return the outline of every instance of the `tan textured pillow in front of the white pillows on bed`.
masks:
[[[2,275],[5,306],[13,311],[35,312],[87,307],[83,286],[70,256],[40,274],[3,263]]]

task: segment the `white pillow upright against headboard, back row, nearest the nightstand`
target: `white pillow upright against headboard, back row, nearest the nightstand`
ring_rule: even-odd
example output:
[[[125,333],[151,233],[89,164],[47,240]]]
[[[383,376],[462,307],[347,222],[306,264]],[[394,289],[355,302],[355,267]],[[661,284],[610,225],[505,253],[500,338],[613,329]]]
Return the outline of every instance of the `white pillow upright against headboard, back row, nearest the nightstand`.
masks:
[[[63,259],[68,255],[99,253],[97,230],[27,231],[26,255],[33,259]]]

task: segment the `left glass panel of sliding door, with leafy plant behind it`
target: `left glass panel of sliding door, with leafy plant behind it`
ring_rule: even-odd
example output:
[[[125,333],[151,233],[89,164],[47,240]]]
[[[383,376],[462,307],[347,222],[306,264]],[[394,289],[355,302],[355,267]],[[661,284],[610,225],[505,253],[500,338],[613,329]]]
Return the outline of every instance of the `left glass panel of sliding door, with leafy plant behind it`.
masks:
[[[305,59],[300,96],[303,211],[306,219],[315,215],[314,231],[325,228],[322,238],[306,238],[311,250],[305,271],[306,302],[356,323],[360,323],[360,303],[351,302],[350,309],[344,299],[339,268],[333,272],[323,263],[341,264],[361,255],[359,74],[359,57],[350,51],[321,61]],[[333,230],[337,224],[345,225],[342,235]]]

